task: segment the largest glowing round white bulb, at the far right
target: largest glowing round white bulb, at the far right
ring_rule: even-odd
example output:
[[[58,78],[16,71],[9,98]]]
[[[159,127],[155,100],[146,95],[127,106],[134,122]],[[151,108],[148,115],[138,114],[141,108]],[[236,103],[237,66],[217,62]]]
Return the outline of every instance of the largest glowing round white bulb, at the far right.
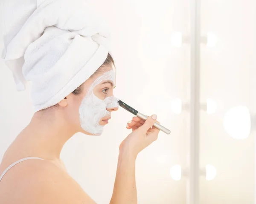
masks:
[[[230,137],[241,140],[250,135],[251,118],[246,106],[236,106],[227,111],[223,126]]]

